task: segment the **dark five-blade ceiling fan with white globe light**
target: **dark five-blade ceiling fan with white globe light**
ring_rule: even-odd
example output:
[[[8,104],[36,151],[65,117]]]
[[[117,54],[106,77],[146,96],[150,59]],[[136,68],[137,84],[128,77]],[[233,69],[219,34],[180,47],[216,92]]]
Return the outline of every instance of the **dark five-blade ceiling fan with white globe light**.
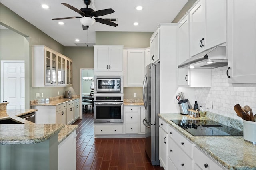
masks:
[[[84,4],[86,4],[86,8],[81,8],[80,10],[78,10],[77,8],[66,4],[66,3],[62,3],[64,6],[70,8],[71,10],[79,13],[81,16],[72,16],[72,17],[64,17],[64,18],[54,18],[52,20],[64,20],[64,19],[72,19],[72,18],[80,18],[80,22],[83,25],[83,30],[87,30],[89,28],[89,26],[91,26],[95,21],[102,23],[102,24],[106,24],[109,26],[118,26],[118,24],[111,22],[109,20],[105,20],[102,18],[98,18],[98,16],[103,16],[103,15],[107,15],[107,14],[111,14],[113,12],[115,12],[114,10],[112,10],[111,8],[109,9],[104,9],[104,10],[98,10],[98,11],[94,11],[91,8],[88,8],[88,5],[90,5],[91,1],[90,0],[83,0]]]

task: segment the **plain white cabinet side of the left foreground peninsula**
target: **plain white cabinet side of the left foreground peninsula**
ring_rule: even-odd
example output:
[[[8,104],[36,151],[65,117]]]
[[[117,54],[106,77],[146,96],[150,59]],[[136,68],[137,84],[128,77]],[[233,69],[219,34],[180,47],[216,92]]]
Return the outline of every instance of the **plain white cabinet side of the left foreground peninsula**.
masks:
[[[58,145],[58,169],[76,169],[76,130]]]

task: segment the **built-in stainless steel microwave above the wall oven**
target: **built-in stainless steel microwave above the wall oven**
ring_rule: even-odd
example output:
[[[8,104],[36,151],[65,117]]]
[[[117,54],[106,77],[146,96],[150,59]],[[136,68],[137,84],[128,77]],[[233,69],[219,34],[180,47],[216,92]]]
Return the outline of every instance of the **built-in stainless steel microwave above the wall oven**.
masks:
[[[94,81],[96,83],[96,93],[123,93],[124,85],[122,76],[95,76]]]

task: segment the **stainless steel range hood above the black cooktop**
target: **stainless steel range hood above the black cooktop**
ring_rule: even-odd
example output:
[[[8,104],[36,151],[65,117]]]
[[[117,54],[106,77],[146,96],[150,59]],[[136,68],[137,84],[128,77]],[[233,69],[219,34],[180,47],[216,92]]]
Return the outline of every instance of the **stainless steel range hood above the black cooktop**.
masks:
[[[226,56],[226,46],[218,46],[208,49],[198,55],[190,57],[178,68],[204,68],[212,69],[228,65],[228,57]]]

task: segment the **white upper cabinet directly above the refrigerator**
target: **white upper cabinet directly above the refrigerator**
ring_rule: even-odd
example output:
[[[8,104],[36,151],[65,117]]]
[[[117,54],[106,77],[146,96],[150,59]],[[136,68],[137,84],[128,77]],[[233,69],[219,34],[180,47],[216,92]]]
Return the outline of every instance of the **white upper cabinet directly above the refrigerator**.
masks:
[[[159,57],[159,28],[154,32],[150,38],[150,63],[158,63],[160,61]]]

